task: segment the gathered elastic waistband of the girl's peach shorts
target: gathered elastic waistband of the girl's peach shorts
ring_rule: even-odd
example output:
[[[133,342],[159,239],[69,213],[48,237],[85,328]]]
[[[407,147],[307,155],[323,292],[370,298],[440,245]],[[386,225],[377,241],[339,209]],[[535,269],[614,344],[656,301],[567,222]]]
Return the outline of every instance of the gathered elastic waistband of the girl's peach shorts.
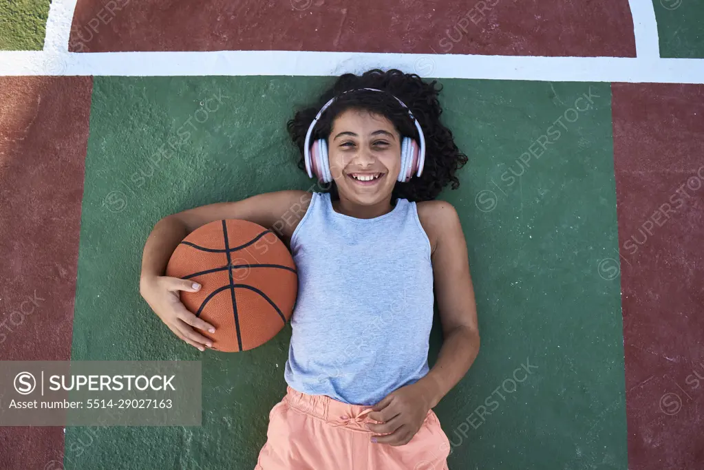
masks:
[[[291,408],[322,419],[332,426],[345,426],[371,433],[372,431],[365,426],[365,423],[378,422],[367,416],[372,411],[370,406],[349,405],[327,395],[308,395],[308,393],[299,392],[290,386],[287,386],[286,391],[284,400]]]

